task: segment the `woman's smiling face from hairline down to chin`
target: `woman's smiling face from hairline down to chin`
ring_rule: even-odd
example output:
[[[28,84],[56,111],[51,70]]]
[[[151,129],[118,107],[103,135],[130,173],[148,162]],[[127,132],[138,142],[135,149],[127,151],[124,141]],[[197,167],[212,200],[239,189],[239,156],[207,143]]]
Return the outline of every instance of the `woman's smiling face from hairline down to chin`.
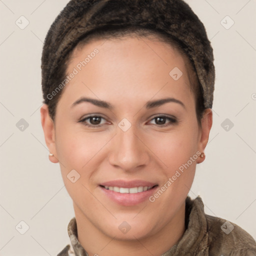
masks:
[[[139,239],[182,214],[211,126],[209,111],[199,129],[186,61],[144,37],[75,49],[45,139],[76,218]]]

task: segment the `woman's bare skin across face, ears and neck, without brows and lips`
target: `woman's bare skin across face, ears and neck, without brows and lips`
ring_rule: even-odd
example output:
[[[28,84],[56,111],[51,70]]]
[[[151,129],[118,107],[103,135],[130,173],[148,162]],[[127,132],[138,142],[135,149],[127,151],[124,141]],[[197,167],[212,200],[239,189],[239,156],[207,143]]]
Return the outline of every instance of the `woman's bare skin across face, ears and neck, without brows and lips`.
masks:
[[[40,109],[45,141],[54,154],[49,159],[60,163],[73,200],[78,240],[90,256],[160,255],[185,230],[185,198],[196,163],[204,157],[192,161],[154,202],[119,205],[99,184],[142,179],[161,187],[189,157],[204,151],[212,112],[205,110],[200,129],[189,88],[188,61],[170,45],[142,37],[93,40],[74,50],[67,73],[95,48],[99,52],[64,87],[54,122],[47,105]],[[176,81],[169,75],[174,67],[183,73]],[[82,96],[107,101],[113,108],[89,102],[71,107]],[[167,102],[145,108],[147,101],[166,97],[184,106]],[[96,128],[79,122],[90,114],[103,117],[97,119],[99,124],[89,118],[84,121]],[[155,119],[162,115],[176,122]],[[123,118],[131,124],[127,131],[118,127]],[[75,183],[66,176],[72,169],[80,174]],[[123,221],[131,227],[125,234],[118,228]]]

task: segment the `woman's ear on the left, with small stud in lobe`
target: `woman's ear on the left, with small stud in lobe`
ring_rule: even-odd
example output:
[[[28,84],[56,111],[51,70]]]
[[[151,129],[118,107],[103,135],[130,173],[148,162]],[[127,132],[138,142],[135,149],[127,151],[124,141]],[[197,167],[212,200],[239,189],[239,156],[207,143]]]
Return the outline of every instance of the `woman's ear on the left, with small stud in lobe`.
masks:
[[[58,162],[58,159],[55,145],[54,122],[49,116],[48,105],[43,104],[40,108],[40,113],[44,139],[50,153],[53,154],[53,156],[49,156],[49,160],[53,163],[56,163]]]

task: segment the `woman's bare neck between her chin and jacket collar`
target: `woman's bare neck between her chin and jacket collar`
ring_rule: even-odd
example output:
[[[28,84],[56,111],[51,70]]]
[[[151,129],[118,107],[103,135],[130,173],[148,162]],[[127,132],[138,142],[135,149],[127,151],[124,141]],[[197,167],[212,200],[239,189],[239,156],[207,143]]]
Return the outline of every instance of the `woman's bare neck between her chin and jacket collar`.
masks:
[[[130,240],[110,237],[96,228],[75,205],[77,238],[89,256],[147,256],[161,255],[181,238],[185,231],[185,202],[175,216],[158,232]]]

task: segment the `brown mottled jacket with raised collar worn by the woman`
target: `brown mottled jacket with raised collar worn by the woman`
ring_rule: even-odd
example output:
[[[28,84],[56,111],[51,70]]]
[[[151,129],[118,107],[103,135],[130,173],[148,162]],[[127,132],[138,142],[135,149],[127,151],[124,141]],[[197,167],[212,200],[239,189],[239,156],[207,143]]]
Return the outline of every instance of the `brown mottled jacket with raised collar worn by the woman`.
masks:
[[[205,214],[200,196],[186,198],[185,227],[178,242],[161,256],[256,256],[252,236],[232,222]],[[67,232],[70,244],[57,256],[88,256],[77,240],[75,217],[70,220]]]

